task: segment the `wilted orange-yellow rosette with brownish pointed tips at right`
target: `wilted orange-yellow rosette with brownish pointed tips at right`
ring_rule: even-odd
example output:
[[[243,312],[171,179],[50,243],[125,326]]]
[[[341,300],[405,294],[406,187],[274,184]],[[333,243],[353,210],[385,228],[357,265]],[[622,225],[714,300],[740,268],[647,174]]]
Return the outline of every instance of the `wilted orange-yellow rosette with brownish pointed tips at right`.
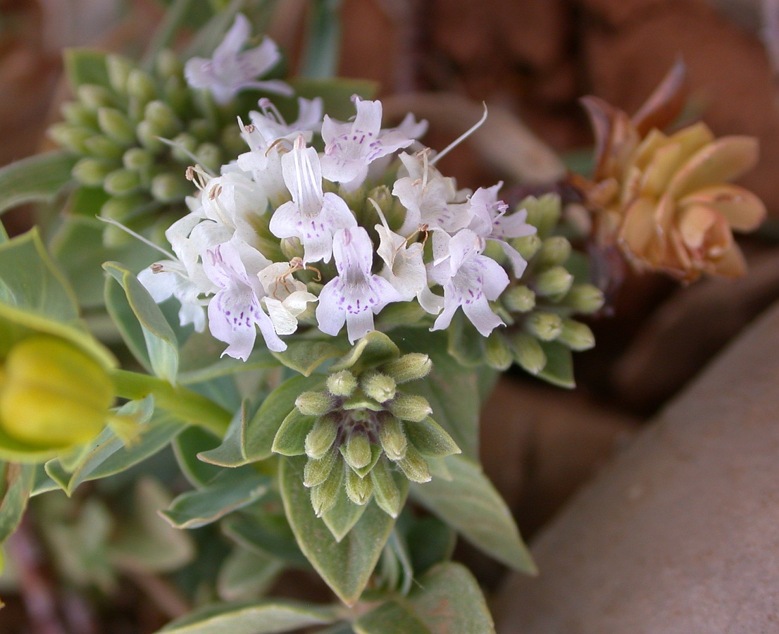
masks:
[[[596,240],[616,241],[636,269],[687,281],[741,276],[746,263],[731,230],[752,231],[766,212],[756,195],[728,181],[753,167],[757,141],[716,139],[703,123],[660,132],[678,114],[683,76],[676,65],[633,118],[596,97],[583,100],[597,167],[593,183],[578,184],[596,213]]]

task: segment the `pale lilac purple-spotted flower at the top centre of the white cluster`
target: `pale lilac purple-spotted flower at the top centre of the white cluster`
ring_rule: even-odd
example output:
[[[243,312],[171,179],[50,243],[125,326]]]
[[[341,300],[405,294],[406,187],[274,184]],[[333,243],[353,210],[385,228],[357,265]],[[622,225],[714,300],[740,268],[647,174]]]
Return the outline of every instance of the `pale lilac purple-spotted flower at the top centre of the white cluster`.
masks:
[[[322,139],[325,154],[322,174],[329,181],[343,183],[348,190],[362,185],[368,165],[413,143],[404,130],[382,130],[382,102],[352,97],[357,107],[354,122],[337,122],[325,115]]]

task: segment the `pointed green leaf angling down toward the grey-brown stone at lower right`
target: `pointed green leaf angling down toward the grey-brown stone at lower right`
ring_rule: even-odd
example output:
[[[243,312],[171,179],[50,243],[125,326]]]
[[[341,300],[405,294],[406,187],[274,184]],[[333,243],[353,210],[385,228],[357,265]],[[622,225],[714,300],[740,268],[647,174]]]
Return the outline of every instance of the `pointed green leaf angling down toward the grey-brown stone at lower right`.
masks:
[[[535,573],[511,511],[481,467],[463,456],[443,460],[452,481],[434,478],[414,484],[414,499],[488,555],[521,572]]]

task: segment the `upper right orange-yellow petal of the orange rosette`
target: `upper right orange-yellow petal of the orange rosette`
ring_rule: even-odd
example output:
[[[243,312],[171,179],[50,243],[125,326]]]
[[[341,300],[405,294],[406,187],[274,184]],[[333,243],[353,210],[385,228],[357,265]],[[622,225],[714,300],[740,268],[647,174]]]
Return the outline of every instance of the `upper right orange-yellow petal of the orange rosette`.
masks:
[[[676,199],[696,189],[738,178],[757,161],[757,139],[751,136],[723,136],[698,150],[679,169],[668,194]]]

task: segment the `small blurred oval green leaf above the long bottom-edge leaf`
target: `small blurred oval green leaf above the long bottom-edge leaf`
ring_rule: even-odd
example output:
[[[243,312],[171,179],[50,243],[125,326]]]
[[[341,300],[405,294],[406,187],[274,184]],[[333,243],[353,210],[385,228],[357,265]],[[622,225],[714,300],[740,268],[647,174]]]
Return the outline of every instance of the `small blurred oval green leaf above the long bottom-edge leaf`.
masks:
[[[217,592],[224,601],[250,601],[268,590],[283,569],[279,559],[238,546],[224,560]]]

